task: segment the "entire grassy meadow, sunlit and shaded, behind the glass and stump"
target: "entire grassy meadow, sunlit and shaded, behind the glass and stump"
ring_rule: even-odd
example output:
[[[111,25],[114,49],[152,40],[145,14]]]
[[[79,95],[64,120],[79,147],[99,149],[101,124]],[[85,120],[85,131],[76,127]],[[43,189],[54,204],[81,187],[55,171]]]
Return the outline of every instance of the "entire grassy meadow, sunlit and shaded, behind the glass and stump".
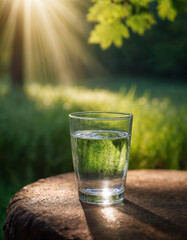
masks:
[[[95,80],[94,80],[95,81]],[[68,114],[115,111],[134,115],[130,169],[187,170],[184,83],[123,78],[76,86],[0,86],[0,227],[12,195],[39,178],[73,171]],[[102,85],[103,84],[103,85]],[[83,86],[84,85],[84,86]],[[93,87],[98,86],[98,88]],[[132,86],[133,85],[133,86]],[[0,233],[2,237],[2,232]]]

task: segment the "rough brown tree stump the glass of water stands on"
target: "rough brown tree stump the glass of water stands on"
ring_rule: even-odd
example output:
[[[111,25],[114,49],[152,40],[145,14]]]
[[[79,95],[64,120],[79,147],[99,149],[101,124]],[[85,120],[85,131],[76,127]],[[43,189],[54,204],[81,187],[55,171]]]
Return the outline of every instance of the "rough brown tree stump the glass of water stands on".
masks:
[[[187,239],[187,172],[128,172],[123,203],[81,204],[73,173],[41,179],[16,193],[5,240]]]

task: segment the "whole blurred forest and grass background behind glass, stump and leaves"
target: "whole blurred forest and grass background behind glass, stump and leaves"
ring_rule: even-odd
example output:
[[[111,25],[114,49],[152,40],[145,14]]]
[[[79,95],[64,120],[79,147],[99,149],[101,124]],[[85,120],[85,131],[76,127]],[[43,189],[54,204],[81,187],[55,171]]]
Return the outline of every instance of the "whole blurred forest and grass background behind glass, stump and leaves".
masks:
[[[134,123],[129,168],[187,170],[186,11],[179,11],[173,22],[156,19],[142,36],[131,32],[121,48],[102,50],[88,44],[93,27],[86,20],[90,2],[62,2],[53,2],[55,14],[50,0],[45,6],[40,3],[41,14],[39,4],[31,6],[30,1],[20,10],[26,15],[16,27],[16,15],[10,20],[15,11],[1,8],[5,1],[0,0],[1,228],[8,202],[21,187],[73,171],[71,112],[130,112]],[[21,46],[13,44],[16,31]],[[21,87],[12,84],[16,48],[23,51]],[[18,59],[16,69],[20,64]]]

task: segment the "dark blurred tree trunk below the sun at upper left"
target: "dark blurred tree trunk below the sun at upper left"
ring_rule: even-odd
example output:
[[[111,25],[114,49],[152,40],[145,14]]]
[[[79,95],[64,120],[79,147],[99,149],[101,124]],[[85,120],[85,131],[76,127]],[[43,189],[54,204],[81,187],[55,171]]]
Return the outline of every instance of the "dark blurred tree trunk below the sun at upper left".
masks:
[[[23,87],[23,2],[20,3],[12,47],[11,80],[14,87]]]

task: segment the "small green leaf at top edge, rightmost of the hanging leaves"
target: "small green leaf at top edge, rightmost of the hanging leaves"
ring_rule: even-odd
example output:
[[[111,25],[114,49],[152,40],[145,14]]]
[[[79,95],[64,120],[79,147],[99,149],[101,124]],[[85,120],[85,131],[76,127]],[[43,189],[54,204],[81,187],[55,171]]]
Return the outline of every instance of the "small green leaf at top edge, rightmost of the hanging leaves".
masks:
[[[174,21],[177,11],[173,8],[171,0],[158,0],[158,15],[162,19]]]

